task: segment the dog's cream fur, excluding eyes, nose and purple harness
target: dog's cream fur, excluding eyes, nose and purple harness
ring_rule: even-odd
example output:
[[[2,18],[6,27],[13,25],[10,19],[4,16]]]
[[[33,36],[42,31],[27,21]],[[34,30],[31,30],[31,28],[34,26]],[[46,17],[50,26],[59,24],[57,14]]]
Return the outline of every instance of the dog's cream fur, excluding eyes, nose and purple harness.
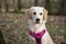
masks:
[[[32,15],[32,12],[36,12],[36,15]],[[43,14],[40,15],[40,12],[42,12]],[[28,10],[26,14],[29,15],[29,28],[30,31],[34,32],[34,33],[38,33],[43,30],[46,30],[45,23],[47,20],[47,11],[42,8],[42,7],[32,7],[31,9]],[[36,24],[35,23],[35,19],[40,18],[40,23]],[[42,20],[44,18],[44,20]],[[33,36],[29,35],[30,37],[30,44],[36,44],[36,41]],[[42,44],[54,44],[47,30],[45,32],[45,34],[42,36]]]

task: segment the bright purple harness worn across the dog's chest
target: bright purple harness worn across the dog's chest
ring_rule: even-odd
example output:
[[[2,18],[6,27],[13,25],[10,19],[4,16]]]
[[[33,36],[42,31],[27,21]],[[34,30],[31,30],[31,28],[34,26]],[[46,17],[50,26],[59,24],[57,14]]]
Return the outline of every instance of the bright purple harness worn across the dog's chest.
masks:
[[[36,40],[36,44],[42,44],[41,38],[45,34],[45,32],[46,31],[43,30],[42,32],[35,34],[34,32],[30,31],[29,34],[32,35]]]

